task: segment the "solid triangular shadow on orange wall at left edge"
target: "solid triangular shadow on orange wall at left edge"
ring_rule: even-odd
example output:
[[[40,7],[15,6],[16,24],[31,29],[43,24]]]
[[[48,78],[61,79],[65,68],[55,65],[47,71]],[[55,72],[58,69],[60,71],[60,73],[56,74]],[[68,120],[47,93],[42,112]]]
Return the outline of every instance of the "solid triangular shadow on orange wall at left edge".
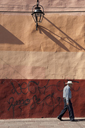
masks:
[[[17,37],[15,37],[12,33],[10,33],[6,28],[0,25],[0,44],[24,44]]]

